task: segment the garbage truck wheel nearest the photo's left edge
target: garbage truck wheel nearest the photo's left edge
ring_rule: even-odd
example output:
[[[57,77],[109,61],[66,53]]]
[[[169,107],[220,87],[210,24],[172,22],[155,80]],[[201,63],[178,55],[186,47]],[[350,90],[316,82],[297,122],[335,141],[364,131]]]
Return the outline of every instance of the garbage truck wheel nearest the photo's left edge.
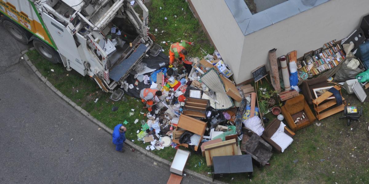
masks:
[[[4,28],[19,42],[23,44],[28,43],[28,34],[26,30],[15,24],[13,21],[8,18],[1,18],[3,22]]]

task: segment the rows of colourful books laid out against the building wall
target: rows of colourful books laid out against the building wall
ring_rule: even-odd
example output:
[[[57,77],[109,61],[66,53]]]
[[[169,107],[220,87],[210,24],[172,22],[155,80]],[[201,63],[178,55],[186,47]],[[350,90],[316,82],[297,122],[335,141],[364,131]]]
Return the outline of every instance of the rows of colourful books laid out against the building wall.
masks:
[[[339,44],[334,45],[334,42],[328,42],[324,44],[323,49],[325,49],[323,52],[311,56],[312,60],[302,61],[299,70],[318,75],[336,67],[345,59],[345,53]]]

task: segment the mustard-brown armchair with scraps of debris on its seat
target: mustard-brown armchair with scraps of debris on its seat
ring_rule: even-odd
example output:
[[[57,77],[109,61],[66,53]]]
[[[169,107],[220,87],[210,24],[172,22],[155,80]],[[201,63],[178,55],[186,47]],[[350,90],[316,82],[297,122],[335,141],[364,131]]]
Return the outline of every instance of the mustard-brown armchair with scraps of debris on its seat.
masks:
[[[310,107],[307,105],[304,95],[287,100],[284,106],[282,106],[282,114],[292,131],[300,130],[311,125],[316,119]],[[302,118],[303,114],[304,118]]]

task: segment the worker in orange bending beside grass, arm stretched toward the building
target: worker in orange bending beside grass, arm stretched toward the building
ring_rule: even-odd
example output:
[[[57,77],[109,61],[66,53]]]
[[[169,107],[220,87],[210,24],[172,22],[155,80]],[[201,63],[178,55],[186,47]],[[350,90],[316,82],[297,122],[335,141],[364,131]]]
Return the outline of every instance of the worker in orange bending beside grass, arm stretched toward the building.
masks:
[[[179,63],[183,61],[183,66],[186,68],[187,74],[189,74],[192,69],[192,62],[186,60],[186,55],[188,53],[186,47],[188,45],[194,45],[194,43],[181,40],[180,43],[177,42],[170,45],[169,49],[169,64],[173,64],[174,61],[178,61]]]

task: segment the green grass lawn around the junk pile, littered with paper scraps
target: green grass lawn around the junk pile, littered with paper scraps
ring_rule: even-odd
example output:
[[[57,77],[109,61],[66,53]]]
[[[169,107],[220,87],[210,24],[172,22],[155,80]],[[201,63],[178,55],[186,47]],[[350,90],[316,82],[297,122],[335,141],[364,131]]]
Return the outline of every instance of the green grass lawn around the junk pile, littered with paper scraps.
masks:
[[[197,44],[191,47],[190,53],[198,57],[204,56],[200,47],[207,52],[213,50],[184,0],[151,0],[147,6],[150,12],[150,31],[156,33],[158,42],[174,42],[177,38],[194,40]],[[177,15],[177,18],[174,15]],[[168,20],[165,21],[164,17]],[[158,32],[155,32],[155,28]],[[169,46],[161,45],[167,54]],[[27,52],[27,55],[41,74],[77,105],[109,128],[127,120],[127,139],[134,140],[134,143],[142,148],[149,145],[137,141],[136,131],[141,128],[141,123],[134,124],[134,120],[145,119],[140,112],[146,113],[139,99],[125,96],[127,101],[114,102],[109,99],[110,93],[102,92],[88,76],[82,77],[74,70],[68,72],[62,64],[51,64],[35,50]],[[54,69],[54,72],[51,69]],[[314,123],[296,131],[292,145],[284,153],[274,153],[270,166],[254,166],[251,183],[369,183],[369,115],[366,113],[369,110],[368,100],[360,103],[355,95],[347,95],[345,90],[342,90],[342,94],[352,105],[364,108],[365,113],[360,122],[354,122],[348,127],[346,120],[338,119],[342,116],[342,113],[338,113],[320,122],[315,121],[321,123],[319,127]],[[94,103],[97,98],[99,100]],[[118,111],[111,112],[113,106],[119,107]],[[270,113],[266,116],[270,120],[275,118]],[[153,151],[169,161],[173,160],[175,152],[171,147]],[[294,160],[298,161],[294,163]],[[192,153],[186,168],[209,176],[210,168],[206,166],[205,158],[201,155]],[[246,180],[248,178],[241,174],[221,179],[237,184],[246,183]]]

